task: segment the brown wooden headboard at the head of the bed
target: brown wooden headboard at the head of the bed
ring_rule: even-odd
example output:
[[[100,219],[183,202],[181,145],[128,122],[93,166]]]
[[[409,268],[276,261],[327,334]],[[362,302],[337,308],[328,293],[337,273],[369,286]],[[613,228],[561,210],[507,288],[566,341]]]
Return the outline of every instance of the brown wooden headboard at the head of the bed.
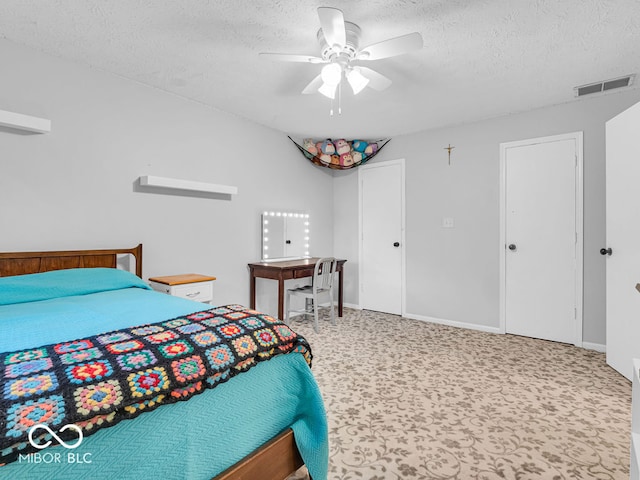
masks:
[[[48,272],[65,268],[116,268],[118,255],[136,259],[136,275],[142,278],[142,244],[113,250],[62,250],[53,252],[0,252],[0,277]]]

